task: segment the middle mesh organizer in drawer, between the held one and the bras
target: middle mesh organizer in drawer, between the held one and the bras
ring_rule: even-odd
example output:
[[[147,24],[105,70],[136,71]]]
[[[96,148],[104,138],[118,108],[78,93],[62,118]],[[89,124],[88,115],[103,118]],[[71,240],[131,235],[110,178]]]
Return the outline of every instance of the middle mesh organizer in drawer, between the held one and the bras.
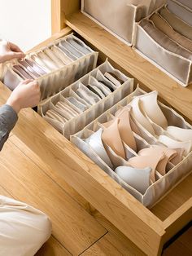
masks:
[[[120,82],[122,84],[118,85],[118,81],[116,81],[117,85],[113,82],[110,82],[105,74],[114,73],[116,77],[119,77]],[[111,77],[112,79],[112,77]],[[106,87],[111,86],[111,92],[108,93],[103,99],[99,99],[98,95],[94,94],[95,102],[89,102],[88,98],[83,99],[83,96],[78,95],[78,90],[80,88],[84,88],[85,93],[88,90],[89,94],[92,94],[87,86],[93,83],[104,82]],[[120,83],[119,82],[119,83]],[[66,89],[59,92],[59,94],[51,97],[49,100],[46,100],[44,103],[38,106],[38,113],[40,113],[41,117],[45,118],[46,121],[49,121],[52,126],[54,126],[59,132],[61,132],[66,138],[70,138],[70,135],[75,134],[77,131],[83,129],[89,122],[93,121],[95,118],[100,116],[103,112],[105,112],[108,108],[111,108],[114,104],[119,102],[125,96],[129,95],[133,91],[133,79],[126,77],[119,70],[113,68],[111,64],[106,60],[105,63],[95,68],[92,72],[88,73],[84,77],[81,77],[78,81],[73,83],[71,86],[68,86]],[[87,95],[88,97],[89,95]],[[59,102],[66,102],[72,106],[72,100],[76,99],[76,102],[80,106],[85,106],[85,108],[79,108],[79,113],[76,113],[74,117],[68,117],[66,121],[59,121],[55,118],[50,118],[47,116],[47,112],[49,110],[55,110],[55,106]],[[74,102],[74,104],[76,104]],[[73,108],[74,107],[73,104]],[[78,105],[76,105],[78,107]],[[63,113],[59,112],[62,116]]]

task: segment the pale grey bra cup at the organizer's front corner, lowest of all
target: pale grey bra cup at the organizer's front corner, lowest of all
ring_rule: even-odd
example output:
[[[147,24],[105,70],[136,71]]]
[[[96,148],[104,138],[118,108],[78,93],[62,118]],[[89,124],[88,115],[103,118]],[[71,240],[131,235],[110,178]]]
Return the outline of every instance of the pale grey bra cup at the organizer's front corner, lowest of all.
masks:
[[[146,189],[150,186],[151,167],[136,169],[129,166],[119,166],[116,168],[115,172],[120,179],[123,179],[125,183],[128,183],[142,194],[144,194]]]

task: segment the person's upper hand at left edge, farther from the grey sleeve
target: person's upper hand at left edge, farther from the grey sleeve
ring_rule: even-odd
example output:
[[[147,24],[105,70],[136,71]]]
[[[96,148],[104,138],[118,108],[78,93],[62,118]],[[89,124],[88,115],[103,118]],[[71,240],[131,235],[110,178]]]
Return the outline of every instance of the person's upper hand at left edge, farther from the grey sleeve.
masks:
[[[0,41],[0,63],[12,59],[22,59],[25,54],[12,42]]]

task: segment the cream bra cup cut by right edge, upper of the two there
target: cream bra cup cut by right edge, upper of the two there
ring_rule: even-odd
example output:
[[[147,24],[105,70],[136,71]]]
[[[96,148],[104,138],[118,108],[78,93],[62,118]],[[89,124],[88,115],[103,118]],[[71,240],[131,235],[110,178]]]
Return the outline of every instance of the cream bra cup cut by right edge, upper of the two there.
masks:
[[[180,141],[192,141],[192,129],[182,129],[177,126],[168,126],[168,135],[170,134],[172,138]]]

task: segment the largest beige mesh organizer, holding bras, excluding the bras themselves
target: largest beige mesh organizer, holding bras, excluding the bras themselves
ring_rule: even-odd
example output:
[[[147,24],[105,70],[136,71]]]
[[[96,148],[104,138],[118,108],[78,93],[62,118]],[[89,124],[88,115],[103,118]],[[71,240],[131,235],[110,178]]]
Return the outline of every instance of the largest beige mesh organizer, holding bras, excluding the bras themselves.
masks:
[[[71,141],[75,143],[78,148],[80,148],[89,158],[91,158],[99,167],[101,167],[107,174],[109,174],[113,179],[115,179],[120,185],[129,191],[134,197],[137,198],[138,201],[141,201],[143,205],[147,207],[153,206],[162,196],[165,196],[166,192],[169,192],[171,188],[174,188],[182,179],[185,179],[187,175],[191,173],[192,170],[192,153],[191,153],[191,143],[190,143],[190,150],[187,152],[185,158],[181,160],[177,164],[177,166],[172,165],[170,170],[164,175],[161,176],[155,183],[152,183],[147,189],[146,192],[142,193],[137,191],[137,189],[131,187],[128,183],[125,183],[123,179],[121,179],[118,174],[111,169],[111,166],[108,166],[107,163],[102,159],[102,157],[98,156],[97,152],[94,151],[88,142],[86,142],[87,138],[93,133],[98,132],[98,129],[101,129],[101,125],[109,120],[111,120],[111,116],[115,117],[115,113],[118,109],[130,104],[130,102],[137,96],[146,94],[145,91],[141,90],[139,87],[131,95],[128,95],[125,99],[122,99],[119,103],[109,109],[106,113],[103,113],[100,117],[86,126],[83,130],[76,133],[76,135],[72,135]],[[181,128],[185,127],[185,129],[190,129],[192,126],[187,124],[185,120],[178,115],[172,108],[166,107],[164,104],[159,103],[161,110],[163,111],[164,115],[168,119],[168,124],[171,126],[180,126]],[[163,145],[163,143],[158,142],[158,139],[153,135],[151,135],[142,125],[138,122],[135,122],[137,128],[140,131],[142,137],[135,134],[135,139],[137,139],[137,150],[141,150],[142,148],[149,148],[151,145]],[[163,130],[163,129],[162,129]],[[163,134],[163,132],[162,132]],[[192,134],[192,130],[191,130]],[[111,138],[112,139],[112,138]],[[94,143],[94,142],[93,142]],[[97,143],[97,141],[95,141]],[[96,147],[96,146],[95,146]],[[138,149],[139,148],[139,149]],[[128,149],[127,149],[128,150]],[[116,155],[115,152],[112,152]],[[135,157],[133,152],[128,152],[127,157],[129,155],[131,157]],[[131,159],[130,157],[130,159]],[[115,158],[115,157],[114,157]],[[124,166],[129,166],[129,162],[124,161],[121,157],[116,155],[116,165],[114,168],[118,167],[121,163]],[[111,159],[111,158],[110,158]],[[129,160],[126,159],[127,161]],[[146,166],[147,167],[147,166]],[[125,171],[125,170],[124,170]],[[144,175],[144,170],[143,170]],[[145,177],[145,176],[143,176]],[[144,178],[143,178],[144,179]],[[144,182],[144,181],[143,181]]]

